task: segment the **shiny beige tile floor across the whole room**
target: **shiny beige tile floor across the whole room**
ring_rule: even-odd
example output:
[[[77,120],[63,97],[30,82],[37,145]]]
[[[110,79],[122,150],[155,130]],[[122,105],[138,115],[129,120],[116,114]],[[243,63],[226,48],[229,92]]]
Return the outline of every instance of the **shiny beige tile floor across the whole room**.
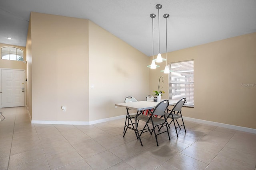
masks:
[[[256,134],[185,121],[176,137],[133,131],[124,119],[94,125],[31,124],[24,107],[0,109],[0,170],[256,170]],[[140,128],[144,122],[140,122]]]

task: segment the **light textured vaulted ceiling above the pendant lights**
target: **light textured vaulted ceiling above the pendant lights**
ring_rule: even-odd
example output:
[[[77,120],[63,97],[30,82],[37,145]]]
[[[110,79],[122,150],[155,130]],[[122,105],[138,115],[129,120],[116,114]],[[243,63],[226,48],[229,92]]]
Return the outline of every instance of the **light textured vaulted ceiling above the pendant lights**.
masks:
[[[142,53],[160,53],[256,32],[256,0],[0,0],[0,43],[26,46],[30,12],[88,19]],[[7,37],[12,37],[8,40]]]

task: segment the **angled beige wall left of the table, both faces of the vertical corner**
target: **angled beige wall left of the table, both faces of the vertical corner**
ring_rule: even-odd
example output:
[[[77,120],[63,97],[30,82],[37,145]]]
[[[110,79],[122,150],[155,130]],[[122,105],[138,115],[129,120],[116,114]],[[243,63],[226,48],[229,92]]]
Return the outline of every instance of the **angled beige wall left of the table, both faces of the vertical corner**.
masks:
[[[148,95],[148,57],[89,20],[32,12],[28,37],[32,120],[115,117],[115,103]]]

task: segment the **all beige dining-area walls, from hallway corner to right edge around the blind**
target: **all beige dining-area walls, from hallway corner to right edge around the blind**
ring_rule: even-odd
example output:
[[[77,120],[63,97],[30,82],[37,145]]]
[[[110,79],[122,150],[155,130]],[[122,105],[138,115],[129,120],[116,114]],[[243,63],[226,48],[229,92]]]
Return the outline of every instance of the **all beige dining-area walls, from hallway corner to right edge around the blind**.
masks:
[[[157,89],[160,76],[168,92],[168,75],[160,72],[165,63],[150,70],[146,65],[152,57],[89,20],[32,12],[30,37],[33,120],[124,115],[125,109],[114,104],[126,96],[144,100]],[[256,83],[255,45],[252,33],[168,53],[168,63],[194,60],[195,106],[183,108],[184,116],[255,129],[256,87],[241,86]]]

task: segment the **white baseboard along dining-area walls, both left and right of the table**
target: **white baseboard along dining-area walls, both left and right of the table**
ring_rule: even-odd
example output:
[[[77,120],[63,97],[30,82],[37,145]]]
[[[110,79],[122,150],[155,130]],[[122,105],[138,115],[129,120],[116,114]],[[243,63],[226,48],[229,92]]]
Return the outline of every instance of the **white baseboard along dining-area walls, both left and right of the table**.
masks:
[[[116,116],[116,117],[109,117],[106,119],[99,119],[99,120],[95,120],[95,121],[40,121],[40,120],[32,120],[31,123],[35,123],[35,124],[62,124],[62,125],[93,125],[96,123],[103,123],[103,122],[107,122],[107,121],[112,121],[112,120],[117,120],[117,119],[122,119],[125,118],[126,115],[121,115],[121,116]],[[228,129],[234,129],[234,130],[238,130],[238,131],[244,131],[244,132],[249,132],[249,133],[254,133],[256,134],[256,129],[252,129],[252,128],[248,128],[248,127],[241,127],[241,126],[236,126],[236,125],[228,125],[228,124],[224,124],[224,123],[218,123],[218,122],[213,122],[213,121],[206,121],[206,120],[202,120],[202,119],[194,119],[191,117],[184,117],[184,120],[187,121],[193,121],[193,122],[197,122],[197,123],[204,123],[204,124],[208,124],[208,125],[213,125],[213,126],[218,126],[218,127],[225,127]]]

